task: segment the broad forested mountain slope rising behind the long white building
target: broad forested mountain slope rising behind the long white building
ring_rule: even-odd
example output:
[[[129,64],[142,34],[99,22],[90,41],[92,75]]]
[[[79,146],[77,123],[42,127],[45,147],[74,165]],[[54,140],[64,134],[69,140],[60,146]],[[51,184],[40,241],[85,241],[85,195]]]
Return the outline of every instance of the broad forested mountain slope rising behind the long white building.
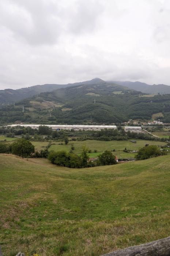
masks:
[[[0,123],[112,124],[159,112],[170,122],[170,95],[146,96],[114,83],[78,84],[1,106]]]

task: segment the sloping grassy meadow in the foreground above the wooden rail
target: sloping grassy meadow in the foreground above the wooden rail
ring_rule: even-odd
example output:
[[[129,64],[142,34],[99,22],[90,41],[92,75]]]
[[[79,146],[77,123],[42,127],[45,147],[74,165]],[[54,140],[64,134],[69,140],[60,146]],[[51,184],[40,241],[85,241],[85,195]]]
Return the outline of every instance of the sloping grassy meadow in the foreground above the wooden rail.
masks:
[[[0,155],[4,255],[87,255],[169,236],[170,156],[68,169]]]

